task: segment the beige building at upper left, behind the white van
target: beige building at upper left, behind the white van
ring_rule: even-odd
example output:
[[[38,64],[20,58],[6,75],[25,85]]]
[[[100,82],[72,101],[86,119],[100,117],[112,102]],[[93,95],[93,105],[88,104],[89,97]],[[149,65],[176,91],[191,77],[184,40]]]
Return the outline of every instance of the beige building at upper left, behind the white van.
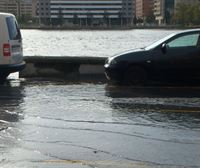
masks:
[[[36,0],[0,0],[0,12],[12,13],[17,17],[35,17]]]

